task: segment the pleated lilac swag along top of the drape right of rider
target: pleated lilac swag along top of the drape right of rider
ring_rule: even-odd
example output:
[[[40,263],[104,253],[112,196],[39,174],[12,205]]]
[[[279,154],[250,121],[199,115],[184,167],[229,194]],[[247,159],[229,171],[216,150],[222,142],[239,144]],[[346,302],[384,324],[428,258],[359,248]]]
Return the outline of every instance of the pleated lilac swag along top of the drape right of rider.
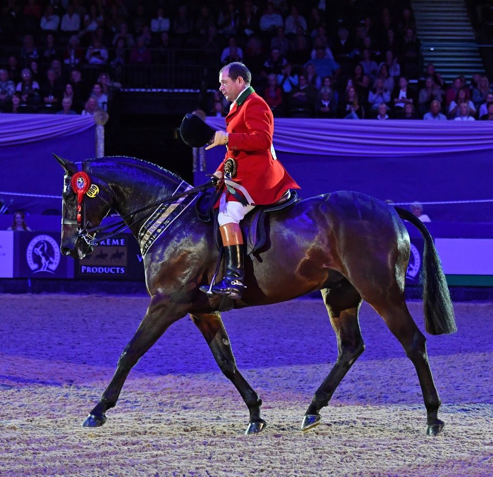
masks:
[[[215,129],[224,118],[208,117]],[[276,151],[320,156],[413,156],[493,149],[493,122],[276,118]]]

